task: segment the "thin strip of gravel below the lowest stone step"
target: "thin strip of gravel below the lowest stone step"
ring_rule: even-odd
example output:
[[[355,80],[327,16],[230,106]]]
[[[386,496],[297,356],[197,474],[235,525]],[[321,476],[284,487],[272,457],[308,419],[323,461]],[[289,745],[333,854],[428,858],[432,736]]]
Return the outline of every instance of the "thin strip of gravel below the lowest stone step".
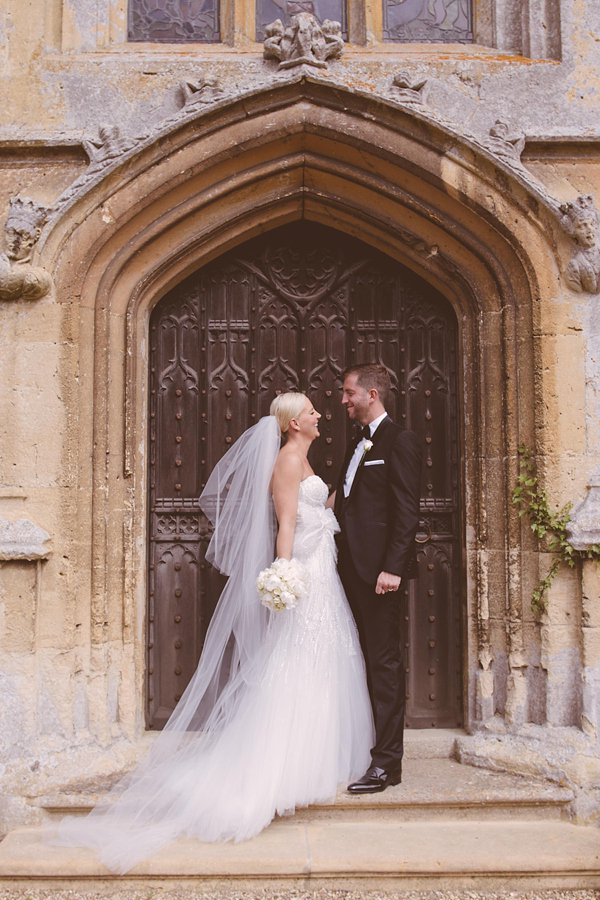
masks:
[[[92,890],[7,890],[0,900],[600,900],[600,890],[591,891],[319,891],[221,890],[193,888],[173,890],[115,888],[110,894]]]

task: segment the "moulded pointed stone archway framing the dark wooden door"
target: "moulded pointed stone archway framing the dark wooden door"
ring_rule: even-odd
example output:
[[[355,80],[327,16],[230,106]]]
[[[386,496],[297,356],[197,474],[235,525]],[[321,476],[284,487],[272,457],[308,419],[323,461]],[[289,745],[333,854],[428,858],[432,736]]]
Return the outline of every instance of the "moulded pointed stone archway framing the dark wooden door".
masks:
[[[528,715],[510,489],[519,441],[534,443],[535,300],[556,274],[552,211],[507,166],[424,115],[302,78],[176,123],[67,198],[45,236],[57,296],[79,313],[82,378],[71,403],[81,424],[70,452],[90,565],[72,602],[98,733],[110,733],[115,715],[128,739],[141,727],[151,310],[200,266],[299,219],[385,252],[455,311],[464,707],[468,724],[496,710]]]

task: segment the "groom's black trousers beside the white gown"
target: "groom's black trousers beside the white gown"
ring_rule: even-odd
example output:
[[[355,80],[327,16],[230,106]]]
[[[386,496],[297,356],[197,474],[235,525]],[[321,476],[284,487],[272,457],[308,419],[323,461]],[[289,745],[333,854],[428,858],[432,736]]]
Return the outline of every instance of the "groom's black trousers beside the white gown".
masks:
[[[387,594],[376,594],[375,585],[367,584],[356,571],[344,540],[339,541],[338,552],[340,578],[358,626],[367,666],[375,719],[375,746],[371,758],[374,766],[395,772],[400,768],[404,753],[404,587]]]

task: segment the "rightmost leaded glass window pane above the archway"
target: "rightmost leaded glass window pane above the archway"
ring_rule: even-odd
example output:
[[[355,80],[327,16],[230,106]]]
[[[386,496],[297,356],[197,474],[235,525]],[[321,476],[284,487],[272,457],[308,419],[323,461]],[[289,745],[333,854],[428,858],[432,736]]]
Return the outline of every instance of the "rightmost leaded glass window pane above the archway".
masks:
[[[383,0],[384,41],[473,42],[473,0]]]

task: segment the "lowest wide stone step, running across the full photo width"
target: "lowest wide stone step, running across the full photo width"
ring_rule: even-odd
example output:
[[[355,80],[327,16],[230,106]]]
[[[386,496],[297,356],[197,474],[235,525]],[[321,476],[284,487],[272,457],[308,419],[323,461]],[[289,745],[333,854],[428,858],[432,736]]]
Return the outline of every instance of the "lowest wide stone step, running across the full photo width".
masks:
[[[278,819],[242,844],[177,841],[126,876],[84,849],[45,844],[39,828],[0,843],[0,888],[146,890],[323,887],[491,890],[600,887],[600,832],[544,821],[337,822]]]

